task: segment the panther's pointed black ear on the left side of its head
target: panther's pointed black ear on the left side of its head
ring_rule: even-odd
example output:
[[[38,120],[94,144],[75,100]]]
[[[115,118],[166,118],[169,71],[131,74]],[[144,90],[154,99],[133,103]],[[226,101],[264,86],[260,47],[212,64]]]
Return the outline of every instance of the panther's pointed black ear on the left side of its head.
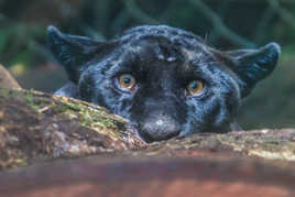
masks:
[[[55,26],[47,28],[47,42],[57,61],[64,66],[69,80],[77,83],[84,65],[91,61],[105,42],[62,33]]]

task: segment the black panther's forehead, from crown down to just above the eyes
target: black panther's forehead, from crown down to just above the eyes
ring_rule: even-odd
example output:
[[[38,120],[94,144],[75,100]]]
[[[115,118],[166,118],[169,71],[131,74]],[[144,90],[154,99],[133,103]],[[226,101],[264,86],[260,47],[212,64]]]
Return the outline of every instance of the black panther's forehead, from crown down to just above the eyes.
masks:
[[[204,73],[218,62],[215,51],[193,33],[170,26],[140,26],[112,40],[117,47],[109,56],[108,73]],[[211,68],[209,68],[211,67]],[[208,72],[206,72],[208,73]]]

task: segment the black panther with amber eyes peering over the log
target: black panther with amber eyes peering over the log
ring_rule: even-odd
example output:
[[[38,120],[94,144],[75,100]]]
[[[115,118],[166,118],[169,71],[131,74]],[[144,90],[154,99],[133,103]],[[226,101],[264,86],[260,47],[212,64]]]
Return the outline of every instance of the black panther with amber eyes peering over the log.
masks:
[[[231,131],[241,100],[281,53],[276,43],[221,52],[166,25],[136,26],[103,42],[48,26],[47,40],[69,78],[55,94],[124,117],[146,142]]]

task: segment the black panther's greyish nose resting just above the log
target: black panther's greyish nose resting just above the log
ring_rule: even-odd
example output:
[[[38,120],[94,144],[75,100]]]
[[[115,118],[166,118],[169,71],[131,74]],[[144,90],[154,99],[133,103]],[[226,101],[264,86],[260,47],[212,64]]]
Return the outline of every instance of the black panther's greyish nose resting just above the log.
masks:
[[[139,124],[139,133],[146,142],[167,140],[179,132],[181,124],[168,116],[151,116]]]

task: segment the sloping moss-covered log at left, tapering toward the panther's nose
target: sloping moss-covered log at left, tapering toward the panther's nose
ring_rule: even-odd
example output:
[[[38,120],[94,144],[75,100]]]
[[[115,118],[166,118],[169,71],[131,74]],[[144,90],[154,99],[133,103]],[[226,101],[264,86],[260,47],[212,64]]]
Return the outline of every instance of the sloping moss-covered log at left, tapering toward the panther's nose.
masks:
[[[144,145],[125,123],[80,100],[0,89],[0,168]]]

